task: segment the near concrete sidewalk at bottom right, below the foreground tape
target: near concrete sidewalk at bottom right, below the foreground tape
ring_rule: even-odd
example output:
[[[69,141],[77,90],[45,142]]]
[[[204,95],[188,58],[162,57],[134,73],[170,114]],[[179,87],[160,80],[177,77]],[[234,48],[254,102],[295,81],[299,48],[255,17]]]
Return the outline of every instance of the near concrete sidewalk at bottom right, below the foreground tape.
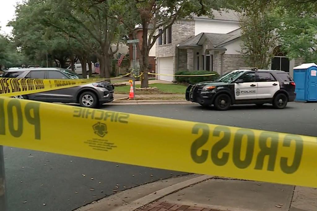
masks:
[[[317,190],[265,182],[211,179],[137,209],[141,210],[316,211]]]

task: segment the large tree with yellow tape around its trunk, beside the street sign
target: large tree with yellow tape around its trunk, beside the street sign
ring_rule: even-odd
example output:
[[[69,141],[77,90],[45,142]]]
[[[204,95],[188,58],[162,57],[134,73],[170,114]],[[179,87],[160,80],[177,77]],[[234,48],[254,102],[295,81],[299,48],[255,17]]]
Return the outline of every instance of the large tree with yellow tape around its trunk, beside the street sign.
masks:
[[[96,3],[105,0],[94,0]],[[218,9],[221,0],[117,0],[113,5],[115,15],[113,19],[122,22],[137,38],[135,26],[142,26],[141,48],[137,46],[140,56],[140,71],[146,72],[149,68],[149,52],[155,47],[159,38],[159,30],[163,33],[176,20],[191,18],[194,14],[212,16],[211,9]],[[141,87],[147,87],[148,80],[141,81]]]

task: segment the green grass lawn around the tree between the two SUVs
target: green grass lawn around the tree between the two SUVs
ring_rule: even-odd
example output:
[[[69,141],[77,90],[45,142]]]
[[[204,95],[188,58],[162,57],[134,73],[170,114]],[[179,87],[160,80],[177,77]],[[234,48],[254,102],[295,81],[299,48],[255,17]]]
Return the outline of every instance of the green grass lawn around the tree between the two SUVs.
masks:
[[[184,94],[186,91],[186,86],[179,84],[150,84],[150,87],[157,87],[155,90],[150,91],[136,91],[136,94]],[[140,87],[140,85],[136,85]],[[129,94],[130,86],[116,86],[114,93],[116,94]]]

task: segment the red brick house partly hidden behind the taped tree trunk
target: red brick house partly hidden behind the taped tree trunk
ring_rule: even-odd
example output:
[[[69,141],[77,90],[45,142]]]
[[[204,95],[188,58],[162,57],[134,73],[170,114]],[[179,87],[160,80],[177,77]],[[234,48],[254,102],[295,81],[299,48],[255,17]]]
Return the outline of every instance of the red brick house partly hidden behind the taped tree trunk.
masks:
[[[142,30],[142,26],[139,26],[137,28],[134,29],[134,31],[136,32],[136,39],[139,39],[139,47],[140,49],[142,48],[142,42],[143,42],[143,38],[142,38],[142,33],[143,33],[143,30]],[[130,35],[130,40],[133,40],[132,38],[132,35]],[[149,52],[149,71],[151,73],[155,73],[155,46],[153,46],[151,49],[150,49],[150,52]],[[129,54],[130,54],[130,66],[133,67],[133,45],[132,44],[129,44]],[[135,66],[137,68],[140,67],[140,54],[137,52],[137,55],[136,55],[136,62],[135,62]]]

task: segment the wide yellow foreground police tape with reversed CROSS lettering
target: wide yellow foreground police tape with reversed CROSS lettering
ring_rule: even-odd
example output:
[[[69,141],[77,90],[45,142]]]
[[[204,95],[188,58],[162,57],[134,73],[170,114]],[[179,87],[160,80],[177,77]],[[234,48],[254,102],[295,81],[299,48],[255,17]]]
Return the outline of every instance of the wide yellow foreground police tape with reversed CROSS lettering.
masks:
[[[0,97],[0,145],[317,187],[317,138],[301,135]]]

